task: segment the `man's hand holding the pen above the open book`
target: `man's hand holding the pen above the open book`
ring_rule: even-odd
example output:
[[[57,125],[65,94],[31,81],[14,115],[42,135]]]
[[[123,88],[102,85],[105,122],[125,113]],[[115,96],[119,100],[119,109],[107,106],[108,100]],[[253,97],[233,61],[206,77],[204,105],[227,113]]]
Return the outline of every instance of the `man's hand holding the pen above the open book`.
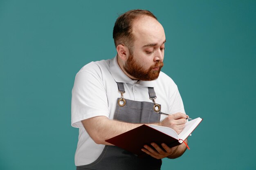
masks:
[[[187,117],[189,116],[183,113],[175,113],[166,117],[163,121],[158,123],[158,125],[172,128],[177,132],[177,134],[180,134],[182,129],[185,127]]]

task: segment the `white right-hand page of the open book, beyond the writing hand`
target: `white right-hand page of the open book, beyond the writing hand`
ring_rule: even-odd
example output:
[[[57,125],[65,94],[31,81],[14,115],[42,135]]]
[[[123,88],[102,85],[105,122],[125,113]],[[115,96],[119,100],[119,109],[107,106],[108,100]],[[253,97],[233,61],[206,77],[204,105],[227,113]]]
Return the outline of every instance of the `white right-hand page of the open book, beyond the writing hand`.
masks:
[[[191,121],[188,121],[182,130],[180,134],[178,135],[179,139],[185,140],[191,133],[192,131],[198,126],[198,124],[202,121],[200,117],[193,119]]]

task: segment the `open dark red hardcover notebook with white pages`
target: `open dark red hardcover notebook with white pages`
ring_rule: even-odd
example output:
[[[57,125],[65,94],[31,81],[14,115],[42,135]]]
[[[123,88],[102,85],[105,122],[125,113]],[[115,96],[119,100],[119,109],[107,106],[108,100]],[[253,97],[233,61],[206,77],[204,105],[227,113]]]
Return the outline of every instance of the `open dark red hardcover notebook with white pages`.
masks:
[[[148,126],[144,124],[107,139],[106,142],[143,157],[145,156],[145,152],[141,151],[141,148],[144,148],[145,144],[151,146],[150,144],[155,142],[161,147],[161,144],[164,143],[170,148],[180,145],[189,137],[201,121],[202,119],[200,117],[188,121],[180,134],[165,126]]]

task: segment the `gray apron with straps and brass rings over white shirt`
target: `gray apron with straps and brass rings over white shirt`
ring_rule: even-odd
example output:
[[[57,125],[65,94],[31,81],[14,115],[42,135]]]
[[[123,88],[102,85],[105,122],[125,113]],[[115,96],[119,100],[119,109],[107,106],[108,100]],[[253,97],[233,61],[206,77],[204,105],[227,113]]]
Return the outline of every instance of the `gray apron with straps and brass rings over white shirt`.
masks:
[[[160,121],[160,105],[155,103],[155,91],[148,87],[149,98],[152,102],[138,102],[124,99],[124,84],[117,82],[121,98],[117,99],[114,119],[128,123],[150,124]],[[98,159],[88,165],[77,166],[76,170],[160,170],[161,159],[151,156],[139,158],[117,146],[106,145]]]

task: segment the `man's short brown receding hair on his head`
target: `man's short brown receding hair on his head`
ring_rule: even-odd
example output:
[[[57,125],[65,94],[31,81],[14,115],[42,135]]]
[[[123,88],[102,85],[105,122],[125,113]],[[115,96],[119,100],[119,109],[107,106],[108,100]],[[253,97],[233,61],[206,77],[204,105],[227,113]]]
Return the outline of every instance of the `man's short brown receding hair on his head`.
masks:
[[[130,50],[132,50],[132,44],[134,42],[134,35],[132,34],[132,24],[136,19],[142,17],[143,15],[150,16],[157,20],[153,13],[148,10],[141,9],[130,10],[126,13],[119,15],[113,29],[113,39],[116,47],[119,44],[124,44],[128,46]]]

